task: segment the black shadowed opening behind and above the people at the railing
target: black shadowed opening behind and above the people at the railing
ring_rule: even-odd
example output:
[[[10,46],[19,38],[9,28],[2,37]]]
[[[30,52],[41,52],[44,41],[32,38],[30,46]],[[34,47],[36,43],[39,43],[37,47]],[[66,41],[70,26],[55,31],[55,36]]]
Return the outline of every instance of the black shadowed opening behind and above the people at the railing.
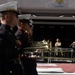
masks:
[[[62,42],[62,47],[70,47],[75,41],[75,25],[34,24],[33,41],[51,40],[54,46],[56,38]]]

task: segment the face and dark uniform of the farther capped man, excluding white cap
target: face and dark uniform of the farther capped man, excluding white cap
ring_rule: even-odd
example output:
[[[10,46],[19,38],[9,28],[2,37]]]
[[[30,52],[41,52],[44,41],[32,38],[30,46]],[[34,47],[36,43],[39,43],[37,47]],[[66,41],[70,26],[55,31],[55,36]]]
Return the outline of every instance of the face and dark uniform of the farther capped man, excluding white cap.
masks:
[[[31,47],[30,37],[32,36],[32,31],[30,27],[30,22],[27,19],[19,20],[18,31],[16,32],[16,37],[21,41],[21,60],[24,66],[25,74],[27,75],[37,75],[36,71],[36,60],[34,58],[29,58],[23,54],[24,48]]]

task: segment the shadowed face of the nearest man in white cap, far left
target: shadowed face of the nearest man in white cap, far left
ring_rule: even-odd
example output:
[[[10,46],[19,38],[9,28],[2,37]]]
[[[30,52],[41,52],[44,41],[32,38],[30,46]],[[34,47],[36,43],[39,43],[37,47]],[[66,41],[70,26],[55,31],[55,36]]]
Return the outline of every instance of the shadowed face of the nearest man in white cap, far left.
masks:
[[[6,24],[14,27],[18,24],[18,15],[14,12],[6,12],[3,15],[3,20],[6,21]]]

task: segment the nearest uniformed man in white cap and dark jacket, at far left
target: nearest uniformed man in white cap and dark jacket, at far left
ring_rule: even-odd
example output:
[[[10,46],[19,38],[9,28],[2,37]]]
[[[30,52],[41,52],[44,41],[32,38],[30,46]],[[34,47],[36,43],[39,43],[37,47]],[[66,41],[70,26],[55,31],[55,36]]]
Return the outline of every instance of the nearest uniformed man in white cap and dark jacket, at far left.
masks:
[[[23,75],[18,63],[20,41],[16,40],[13,27],[18,23],[17,2],[0,5],[0,75]]]

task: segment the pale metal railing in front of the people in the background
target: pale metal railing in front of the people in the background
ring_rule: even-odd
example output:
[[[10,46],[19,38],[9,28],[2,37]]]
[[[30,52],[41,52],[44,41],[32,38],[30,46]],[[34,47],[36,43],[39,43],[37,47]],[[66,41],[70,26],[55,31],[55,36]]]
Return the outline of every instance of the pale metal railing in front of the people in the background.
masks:
[[[52,48],[47,49],[44,47],[28,47],[24,49],[24,54],[28,54],[29,57],[35,57],[36,59],[47,59],[48,63],[52,60],[69,60],[70,62],[75,61],[75,54],[72,48]]]

